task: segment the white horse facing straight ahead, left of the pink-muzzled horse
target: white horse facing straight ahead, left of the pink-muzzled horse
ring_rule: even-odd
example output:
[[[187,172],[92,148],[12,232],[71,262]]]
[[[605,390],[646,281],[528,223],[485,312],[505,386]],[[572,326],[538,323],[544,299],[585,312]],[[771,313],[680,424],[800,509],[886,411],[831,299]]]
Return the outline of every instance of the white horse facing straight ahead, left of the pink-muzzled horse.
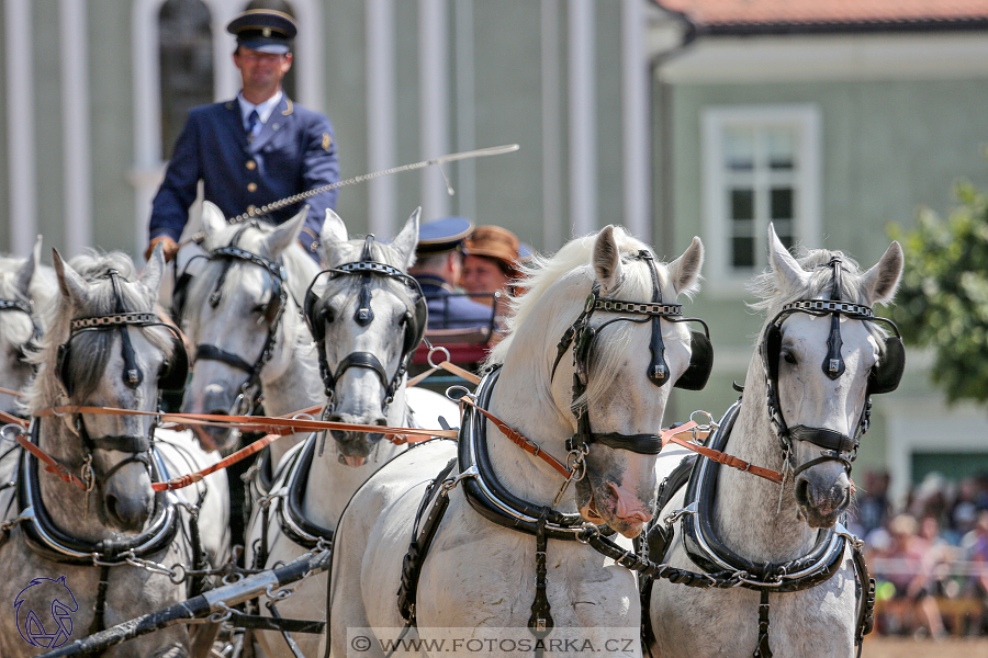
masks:
[[[389,427],[430,427],[439,415],[454,422],[458,410],[441,396],[406,389],[408,360],[422,339],[427,310],[407,269],[418,243],[418,211],[391,243],[372,236],[348,240],[347,229],[327,211],[321,245],[328,264],[306,295],[305,311],[319,350],[321,371],[330,394],[324,418]],[[372,269],[373,268],[373,269]],[[416,401],[415,411],[409,397]],[[339,515],[353,491],[378,468],[405,450],[380,433],[332,431],[314,435],[281,463],[272,492],[277,500],[255,510],[247,565],[271,567],[316,544],[332,541]],[[325,445],[328,444],[328,445]],[[303,581],[278,602],[284,617],[323,616],[326,577]],[[267,605],[261,612],[270,615]],[[293,634],[304,655],[314,655],[319,636]],[[278,633],[258,633],[265,654],[292,656]]]

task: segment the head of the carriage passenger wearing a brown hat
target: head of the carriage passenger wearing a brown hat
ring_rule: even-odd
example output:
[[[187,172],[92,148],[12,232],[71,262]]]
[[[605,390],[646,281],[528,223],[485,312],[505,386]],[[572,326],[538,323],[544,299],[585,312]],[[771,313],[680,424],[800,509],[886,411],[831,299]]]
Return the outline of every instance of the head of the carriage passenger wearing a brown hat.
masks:
[[[479,295],[472,297],[475,302],[493,306],[497,316],[507,313],[505,297],[513,294],[512,282],[518,279],[519,247],[515,234],[499,226],[478,227],[463,247],[460,284]]]

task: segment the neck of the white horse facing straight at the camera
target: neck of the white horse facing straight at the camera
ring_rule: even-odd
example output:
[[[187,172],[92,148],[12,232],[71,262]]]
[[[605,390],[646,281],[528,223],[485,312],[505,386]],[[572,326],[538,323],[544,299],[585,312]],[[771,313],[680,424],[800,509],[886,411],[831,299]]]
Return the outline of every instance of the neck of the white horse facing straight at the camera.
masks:
[[[407,427],[404,382],[398,386],[394,400],[388,407],[385,418],[390,427]],[[322,441],[322,436],[317,435],[316,440]],[[323,455],[316,453],[308,469],[305,499],[302,502],[305,518],[323,527],[336,527],[337,521],[357,489],[374,472],[404,450],[405,445],[395,445],[386,438],[382,438],[367,462],[355,468],[340,463],[333,436],[327,435]]]

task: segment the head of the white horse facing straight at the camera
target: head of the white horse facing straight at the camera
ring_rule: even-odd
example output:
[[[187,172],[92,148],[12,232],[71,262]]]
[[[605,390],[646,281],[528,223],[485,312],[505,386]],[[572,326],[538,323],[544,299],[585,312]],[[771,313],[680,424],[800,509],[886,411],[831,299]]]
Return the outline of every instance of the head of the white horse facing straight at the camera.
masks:
[[[349,240],[343,219],[326,211],[321,243],[328,269],[306,293],[305,317],[318,345],[327,420],[388,424],[426,326],[425,300],[407,273],[418,216],[416,209],[394,240],[382,243],[373,236]],[[351,466],[363,464],[382,440],[373,432],[332,433]]]

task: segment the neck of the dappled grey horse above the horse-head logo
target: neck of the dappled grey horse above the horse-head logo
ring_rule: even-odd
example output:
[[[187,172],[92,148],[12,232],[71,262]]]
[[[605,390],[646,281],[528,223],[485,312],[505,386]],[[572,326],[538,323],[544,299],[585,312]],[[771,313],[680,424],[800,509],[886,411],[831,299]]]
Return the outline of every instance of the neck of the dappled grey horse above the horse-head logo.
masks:
[[[65,446],[78,445],[81,440],[71,433],[65,424],[69,418],[57,417],[37,419],[38,446],[61,462],[69,470],[81,479],[81,461],[66,456]],[[59,447],[60,446],[60,447]],[[100,503],[100,490],[96,487],[89,495],[81,494],[77,485],[63,481],[54,474],[45,470],[44,464],[37,465],[38,490],[42,504],[48,517],[65,534],[85,542],[97,543],[112,536],[100,521],[97,506]]]

